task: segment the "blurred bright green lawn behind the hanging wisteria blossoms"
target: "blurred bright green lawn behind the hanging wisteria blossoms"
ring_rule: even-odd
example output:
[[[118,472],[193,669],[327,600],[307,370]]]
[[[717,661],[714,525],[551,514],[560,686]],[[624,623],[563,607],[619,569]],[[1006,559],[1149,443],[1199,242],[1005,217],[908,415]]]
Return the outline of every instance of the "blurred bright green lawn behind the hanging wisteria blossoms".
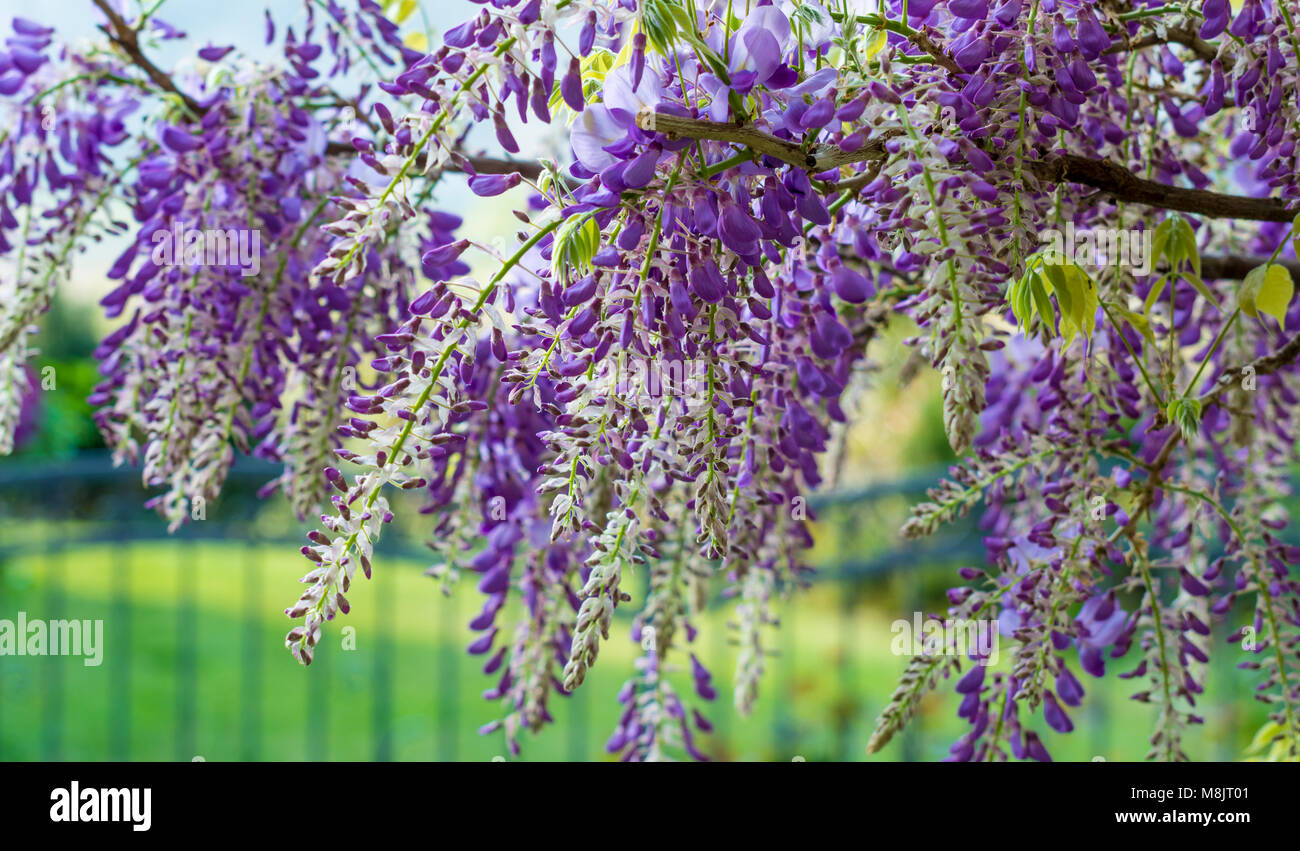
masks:
[[[306,564],[291,547],[239,542],[91,546],[9,559],[0,617],[25,611],[30,618],[103,618],[105,651],[98,668],[77,657],[0,656],[0,759],[506,754],[500,734],[476,731],[500,707],[480,696],[495,683],[480,673],[482,657],[463,651],[465,624],[480,605],[472,583],[443,598],[421,574],[424,565],[381,560],[374,579],[348,594],[352,613],[326,629],[317,663],[302,668],[283,648],[290,621],[281,611],[296,598]],[[890,654],[889,624],[906,613],[888,583],[878,598],[854,595],[861,602],[853,604],[845,603],[848,591],[827,582],[781,607],[783,626],[772,634],[777,655],[749,718],[731,707],[727,609],[699,624],[697,652],[720,691],[705,709],[716,728],[702,737],[706,752],[727,760],[867,759],[871,726],[906,661]],[[342,648],[343,626],[355,628],[355,650]],[[638,650],[627,633],[628,621],[616,622],[586,683],[573,698],[554,700],[555,725],[525,734],[520,759],[610,759],[603,742],[620,711],[614,695]],[[1072,713],[1075,733],[1057,735],[1041,716],[1034,725],[1053,756],[1141,759],[1153,709],[1124,699],[1139,686],[1080,678],[1089,700]],[[689,676],[675,680],[685,696]],[[1206,726],[1187,741],[1193,759],[1240,757],[1264,721],[1252,687],[1231,661],[1212,668]],[[965,729],[956,707],[952,685],[941,685],[911,733],[870,759],[942,759]]]

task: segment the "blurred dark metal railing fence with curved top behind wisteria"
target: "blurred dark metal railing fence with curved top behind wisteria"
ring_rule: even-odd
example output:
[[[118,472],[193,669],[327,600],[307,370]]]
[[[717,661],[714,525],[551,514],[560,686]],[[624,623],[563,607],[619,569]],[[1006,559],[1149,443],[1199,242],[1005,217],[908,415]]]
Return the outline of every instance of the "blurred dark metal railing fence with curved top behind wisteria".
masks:
[[[365,613],[354,599],[354,613],[330,625],[367,624],[356,652],[322,643],[311,668],[289,660],[281,646],[287,621],[277,604],[292,599],[292,581],[306,563],[281,557],[291,559],[302,543],[302,526],[277,507],[282,500],[254,496],[272,474],[266,466],[237,465],[207,518],[169,535],[142,508],[138,472],[114,469],[107,457],[0,468],[0,618],[26,607],[48,620],[88,612],[105,625],[98,668],[0,656],[0,759],[504,754],[499,735],[474,734],[493,716],[477,692],[494,680],[462,650],[469,637],[464,624],[477,608],[472,589],[436,599],[421,577],[428,553],[402,534],[402,517],[381,544],[374,581],[356,586],[368,586]],[[937,599],[956,564],[982,557],[970,522],[919,546],[892,546],[906,505],[933,481],[918,476],[812,500],[819,538],[832,542],[810,591],[822,599],[811,609],[783,608],[753,718],[737,717],[729,705],[725,660],[732,651],[724,613],[716,613],[698,648],[722,692],[708,708],[715,731],[706,750],[722,759],[862,757],[901,665],[889,657],[889,676],[868,676],[863,660],[879,656],[880,647],[878,637],[872,652],[863,651],[863,611],[880,595],[901,603],[901,611],[920,611]],[[604,757],[601,744],[619,709],[612,695],[628,670],[607,659],[615,654],[602,651],[604,665],[588,685],[554,700],[556,722],[524,738],[524,759]],[[1095,702],[1086,721],[1093,752],[1105,752],[1106,705]],[[924,715],[918,718],[887,756],[941,756],[945,741],[923,735],[930,724]]]

